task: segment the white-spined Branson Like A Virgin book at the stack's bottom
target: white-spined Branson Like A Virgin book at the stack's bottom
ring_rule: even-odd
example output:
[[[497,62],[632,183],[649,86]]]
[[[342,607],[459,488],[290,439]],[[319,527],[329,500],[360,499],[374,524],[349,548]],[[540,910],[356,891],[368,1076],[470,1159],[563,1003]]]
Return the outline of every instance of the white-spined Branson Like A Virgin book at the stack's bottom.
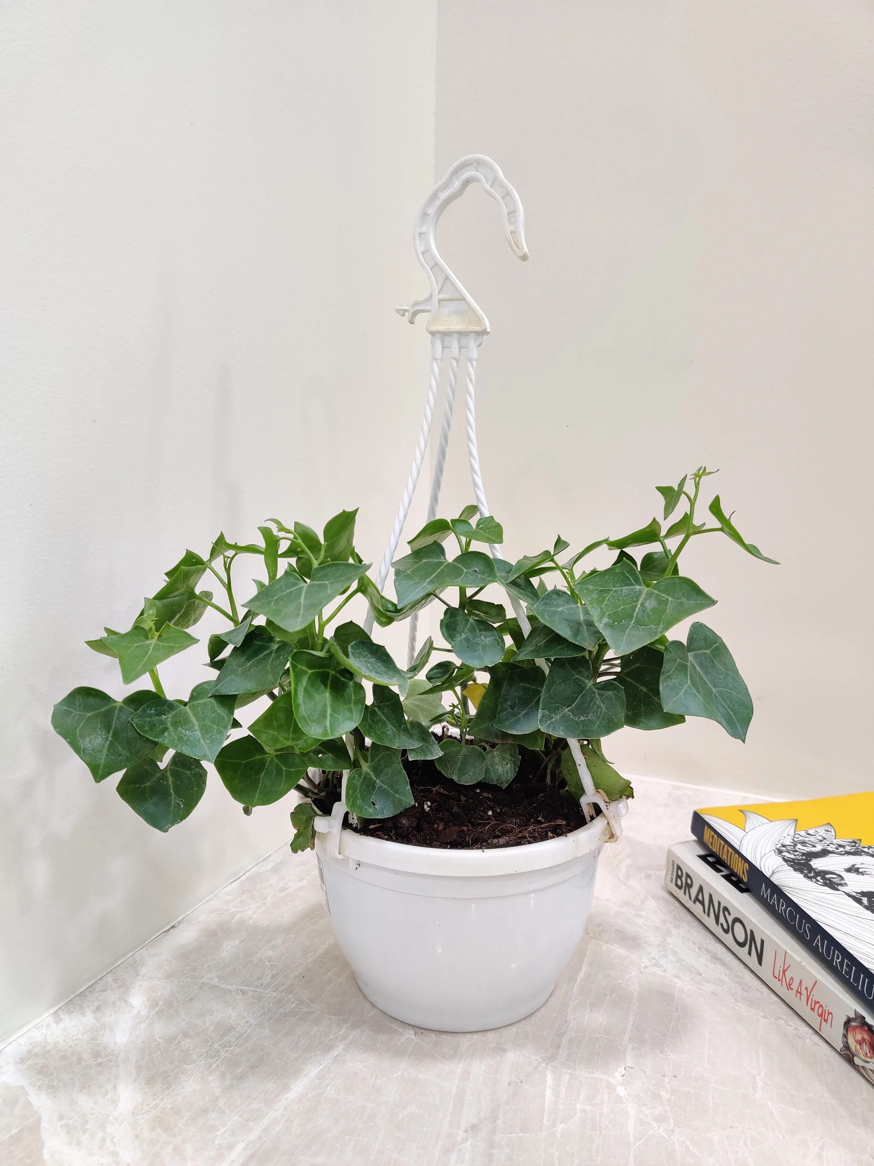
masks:
[[[874,1084],[872,1010],[859,1009],[837,976],[819,967],[734,873],[698,842],[668,850],[664,884],[684,907]]]

